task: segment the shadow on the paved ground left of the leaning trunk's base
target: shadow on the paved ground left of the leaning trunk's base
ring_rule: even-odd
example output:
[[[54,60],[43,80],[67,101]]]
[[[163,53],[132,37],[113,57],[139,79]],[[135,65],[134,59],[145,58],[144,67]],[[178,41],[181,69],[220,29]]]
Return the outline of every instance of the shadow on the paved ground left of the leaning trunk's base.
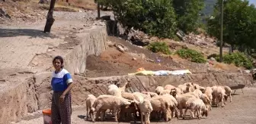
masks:
[[[56,38],[56,35],[51,33],[43,33],[39,29],[0,29],[0,37],[14,37],[14,36],[30,36],[31,38]]]

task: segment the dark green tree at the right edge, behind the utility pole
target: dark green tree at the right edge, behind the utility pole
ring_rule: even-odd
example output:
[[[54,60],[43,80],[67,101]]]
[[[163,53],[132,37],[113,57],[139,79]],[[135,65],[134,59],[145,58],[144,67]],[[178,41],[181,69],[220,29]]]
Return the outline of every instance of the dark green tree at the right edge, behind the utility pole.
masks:
[[[219,39],[220,36],[220,4],[214,7],[213,17],[208,19],[207,32]],[[256,8],[247,0],[228,0],[224,2],[223,42],[245,48],[255,48]]]

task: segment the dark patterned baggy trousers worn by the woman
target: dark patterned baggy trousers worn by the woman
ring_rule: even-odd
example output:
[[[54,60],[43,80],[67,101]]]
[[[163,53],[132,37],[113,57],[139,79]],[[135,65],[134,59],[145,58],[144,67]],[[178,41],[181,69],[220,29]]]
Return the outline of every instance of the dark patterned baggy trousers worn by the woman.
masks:
[[[71,94],[68,93],[64,101],[59,103],[59,97],[62,95],[63,91],[54,91],[52,98],[52,124],[71,124],[71,114],[72,114],[72,105],[71,105]]]

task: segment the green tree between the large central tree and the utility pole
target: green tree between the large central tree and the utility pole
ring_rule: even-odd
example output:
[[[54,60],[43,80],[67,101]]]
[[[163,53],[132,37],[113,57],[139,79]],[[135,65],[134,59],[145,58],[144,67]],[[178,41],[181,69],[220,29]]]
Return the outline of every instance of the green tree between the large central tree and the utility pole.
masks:
[[[173,6],[179,29],[190,33],[200,27],[200,11],[204,8],[204,0],[173,0]]]

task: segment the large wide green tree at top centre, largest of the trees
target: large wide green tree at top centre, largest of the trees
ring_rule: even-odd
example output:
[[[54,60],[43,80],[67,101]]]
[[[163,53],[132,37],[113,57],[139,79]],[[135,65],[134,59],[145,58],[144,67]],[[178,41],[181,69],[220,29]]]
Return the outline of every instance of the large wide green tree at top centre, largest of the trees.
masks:
[[[106,0],[98,0],[106,2]],[[152,36],[172,38],[177,28],[170,0],[107,0],[114,16],[126,29],[140,29]]]

